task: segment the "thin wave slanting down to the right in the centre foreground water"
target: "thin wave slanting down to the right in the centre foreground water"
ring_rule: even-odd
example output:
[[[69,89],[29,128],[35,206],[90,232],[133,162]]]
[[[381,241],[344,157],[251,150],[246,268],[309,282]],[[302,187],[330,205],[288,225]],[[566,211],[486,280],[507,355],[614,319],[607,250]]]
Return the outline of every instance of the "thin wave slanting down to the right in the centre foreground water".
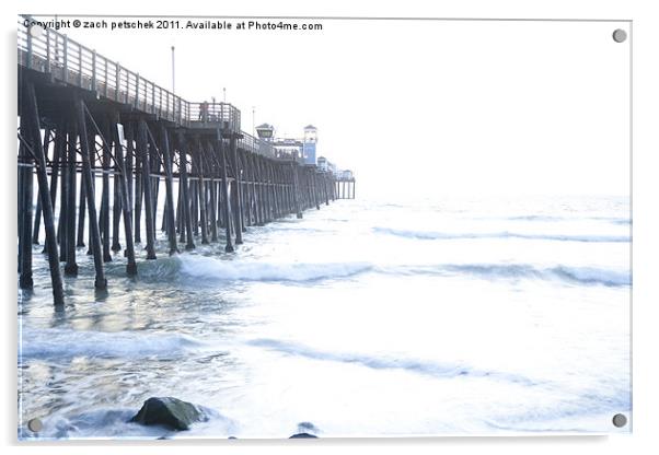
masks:
[[[312,360],[355,363],[373,370],[405,370],[412,373],[433,376],[437,378],[454,378],[465,376],[490,377],[495,380],[522,383],[525,385],[535,384],[533,381],[521,375],[477,370],[469,365],[438,363],[416,359],[397,359],[393,357],[389,358],[359,353],[321,351],[292,341],[275,340],[269,338],[253,339],[247,341],[247,345],[281,352],[288,355],[304,357]]]

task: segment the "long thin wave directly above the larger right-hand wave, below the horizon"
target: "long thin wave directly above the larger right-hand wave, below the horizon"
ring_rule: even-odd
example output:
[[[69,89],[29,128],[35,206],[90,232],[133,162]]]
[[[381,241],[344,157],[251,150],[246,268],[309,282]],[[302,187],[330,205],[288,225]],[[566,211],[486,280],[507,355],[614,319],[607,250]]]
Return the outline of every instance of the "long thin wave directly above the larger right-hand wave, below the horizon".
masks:
[[[463,240],[463,238],[523,238],[539,241],[558,241],[558,242],[629,242],[628,235],[573,235],[573,234],[524,234],[509,231],[501,232],[437,232],[437,231],[414,231],[393,228],[373,228],[373,232],[379,234],[395,235],[405,238],[416,240]]]

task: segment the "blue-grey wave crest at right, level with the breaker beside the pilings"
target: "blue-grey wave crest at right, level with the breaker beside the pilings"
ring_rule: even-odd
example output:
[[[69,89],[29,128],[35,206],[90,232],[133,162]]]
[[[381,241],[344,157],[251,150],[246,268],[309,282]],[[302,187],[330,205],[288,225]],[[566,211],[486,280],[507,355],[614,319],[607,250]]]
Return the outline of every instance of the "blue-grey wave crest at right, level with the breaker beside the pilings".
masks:
[[[632,284],[629,272],[596,267],[534,267],[528,264],[446,264],[408,266],[401,268],[406,275],[470,275],[489,280],[536,279],[562,281],[571,284],[600,284],[609,288]]]

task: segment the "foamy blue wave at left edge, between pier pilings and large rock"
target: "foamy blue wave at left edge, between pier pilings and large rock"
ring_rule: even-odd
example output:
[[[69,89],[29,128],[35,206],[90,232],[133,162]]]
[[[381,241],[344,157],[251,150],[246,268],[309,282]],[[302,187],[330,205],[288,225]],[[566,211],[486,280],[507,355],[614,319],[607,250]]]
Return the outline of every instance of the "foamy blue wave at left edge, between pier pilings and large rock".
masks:
[[[180,334],[146,331],[96,331],[59,328],[26,329],[21,332],[20,359],[33,358],[140,358],[180,355],[204,343]]]

